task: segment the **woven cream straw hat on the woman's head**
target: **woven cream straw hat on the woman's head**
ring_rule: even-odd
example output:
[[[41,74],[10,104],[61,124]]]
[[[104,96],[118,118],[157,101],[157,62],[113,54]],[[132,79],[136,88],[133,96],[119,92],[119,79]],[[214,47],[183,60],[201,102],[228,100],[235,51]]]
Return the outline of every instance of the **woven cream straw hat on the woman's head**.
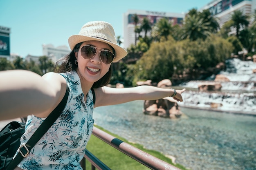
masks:
[[[116,54],[113,62],[117,62],[127,55],[127,51],[117,45],[112,25],[104,21],[92,21],[84,24],[78,35],[71,35],[68,38],[68,44],[73,50],[76,44],[92,40],[106,42],[115,49]]]

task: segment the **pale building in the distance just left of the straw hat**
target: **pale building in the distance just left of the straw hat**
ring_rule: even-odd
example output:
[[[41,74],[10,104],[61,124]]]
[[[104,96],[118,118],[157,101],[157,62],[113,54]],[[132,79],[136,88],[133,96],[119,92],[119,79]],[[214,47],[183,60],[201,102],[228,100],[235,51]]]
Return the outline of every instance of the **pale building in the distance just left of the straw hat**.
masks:
[[[70,49],[63,45],[54,47],[52,44],[43,44],[43,55],[52,58],[53,62],[70,53]]]

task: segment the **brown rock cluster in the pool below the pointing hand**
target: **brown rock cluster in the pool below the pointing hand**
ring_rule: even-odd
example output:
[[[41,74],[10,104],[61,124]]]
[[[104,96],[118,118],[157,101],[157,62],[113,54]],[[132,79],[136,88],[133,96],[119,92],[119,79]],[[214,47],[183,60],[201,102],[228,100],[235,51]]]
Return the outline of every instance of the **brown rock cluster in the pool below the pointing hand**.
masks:
[[[165,97],[158,100],[145,100],[143,113],[171,119],[179,118],[182,115],[180,107],[172,97]]]

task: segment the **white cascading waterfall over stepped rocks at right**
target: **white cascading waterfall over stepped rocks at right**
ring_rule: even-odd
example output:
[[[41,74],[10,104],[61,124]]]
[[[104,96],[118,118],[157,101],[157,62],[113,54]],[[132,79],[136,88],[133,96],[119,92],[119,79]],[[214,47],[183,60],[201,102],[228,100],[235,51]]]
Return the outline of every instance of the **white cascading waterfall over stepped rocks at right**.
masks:
[[[226,60],[225,75],[230,82],[219,82],[221,91],[199,91],[198,85],[213,81],[190,81],[182,87],[192,88],[183,93],[180,106],[231,113],[256,115],[256,63],[237,58]]]

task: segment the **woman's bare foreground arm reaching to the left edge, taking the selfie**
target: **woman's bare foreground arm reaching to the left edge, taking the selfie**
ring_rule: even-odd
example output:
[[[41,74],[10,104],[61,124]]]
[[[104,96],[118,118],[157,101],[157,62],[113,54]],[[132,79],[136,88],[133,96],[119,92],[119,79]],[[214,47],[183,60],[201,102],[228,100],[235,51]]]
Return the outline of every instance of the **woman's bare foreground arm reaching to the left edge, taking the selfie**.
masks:
[[[25,70],[0,71],[0,119],[47,117],[65,94],[65,79]]]

